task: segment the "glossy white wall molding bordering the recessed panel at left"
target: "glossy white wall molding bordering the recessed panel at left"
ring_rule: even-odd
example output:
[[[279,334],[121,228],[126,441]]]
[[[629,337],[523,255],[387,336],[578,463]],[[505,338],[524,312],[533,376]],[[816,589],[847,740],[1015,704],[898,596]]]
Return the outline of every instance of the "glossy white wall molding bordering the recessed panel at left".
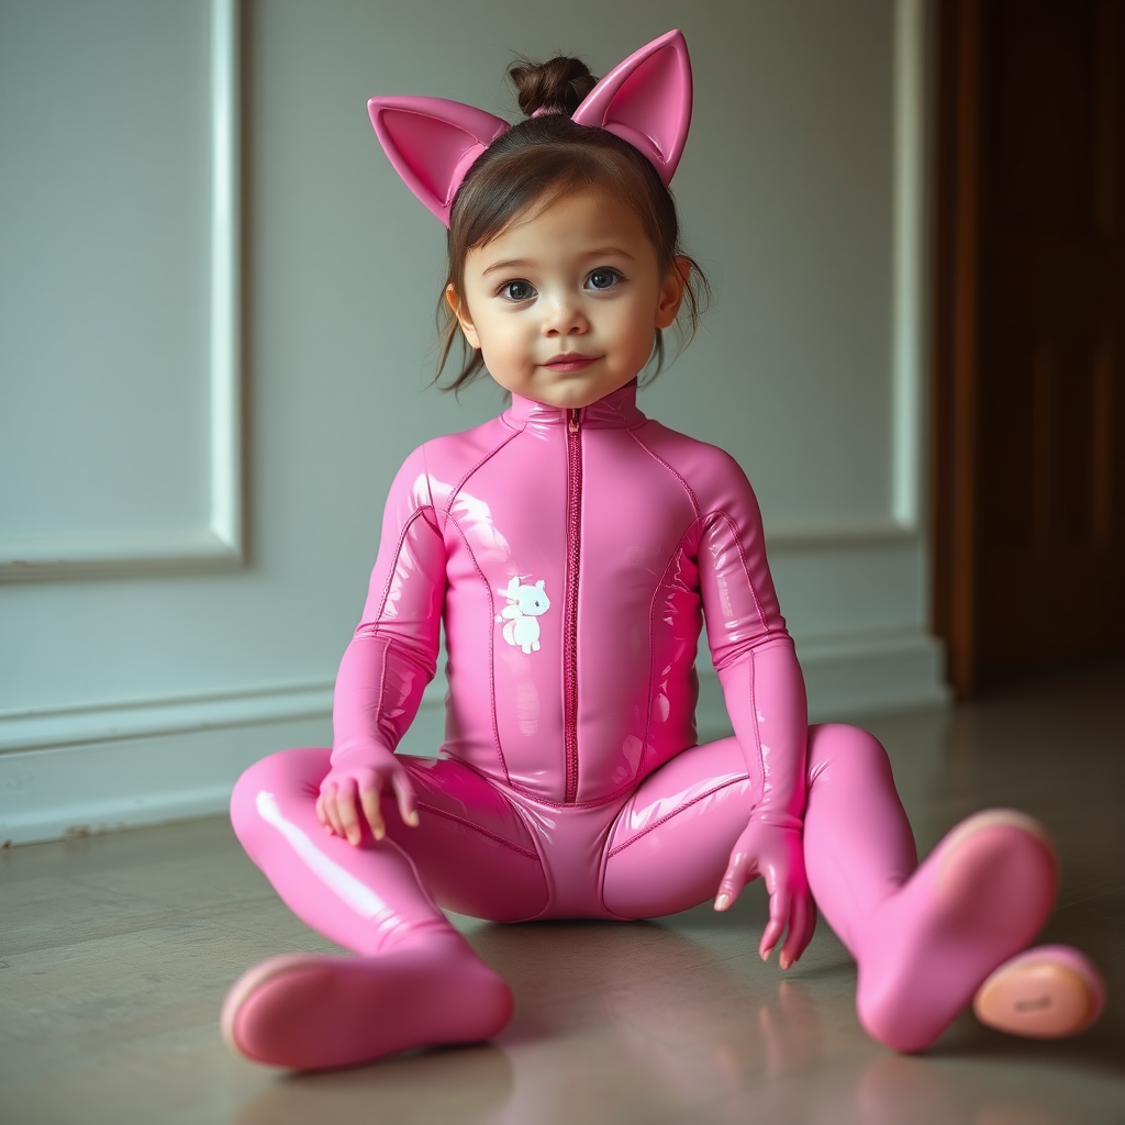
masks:
[[[210,514],[207,526],[0,537],[0,580],[230,568],[243,560],[240,0],[209,0]]]

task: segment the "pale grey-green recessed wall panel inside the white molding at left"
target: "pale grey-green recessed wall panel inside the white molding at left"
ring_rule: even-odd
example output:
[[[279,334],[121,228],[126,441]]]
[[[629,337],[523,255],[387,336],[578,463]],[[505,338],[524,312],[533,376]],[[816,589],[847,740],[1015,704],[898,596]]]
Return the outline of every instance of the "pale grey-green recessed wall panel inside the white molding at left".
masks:
[[[202,0],[0,6],[0,556],[207,537],[212,32]]]

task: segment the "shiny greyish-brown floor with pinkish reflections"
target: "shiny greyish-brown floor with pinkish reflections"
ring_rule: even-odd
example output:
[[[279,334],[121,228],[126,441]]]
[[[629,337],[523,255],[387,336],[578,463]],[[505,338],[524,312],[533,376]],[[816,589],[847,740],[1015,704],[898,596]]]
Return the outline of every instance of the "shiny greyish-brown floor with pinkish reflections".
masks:
[[[498,1040],[286,1077],[227,1054],[219,1004],[256,960],[327,945],[208,820],[0,855],[0,1120],[1123,1125],[1125,669],[867,726],[920,849],[998,803],[1054,832],[1063,884],[1045,937],[1106,971],[1096,1028],[1042,1043],[966,1015],[925,1055],[897,1056],[860,1029],[854,969],[826,926],[784,978],[758,962],[755,888],[724,917],[466,919],[515,989]]]

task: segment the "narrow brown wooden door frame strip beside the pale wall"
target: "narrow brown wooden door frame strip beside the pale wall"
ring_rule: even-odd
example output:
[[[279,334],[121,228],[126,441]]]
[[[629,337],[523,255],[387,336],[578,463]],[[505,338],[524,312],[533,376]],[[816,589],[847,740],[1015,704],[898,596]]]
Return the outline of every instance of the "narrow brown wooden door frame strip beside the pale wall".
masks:
[[[976,372],[979,353],[982,0],[938,0],[930,541],[934,631],[957,699],[978,687]]]

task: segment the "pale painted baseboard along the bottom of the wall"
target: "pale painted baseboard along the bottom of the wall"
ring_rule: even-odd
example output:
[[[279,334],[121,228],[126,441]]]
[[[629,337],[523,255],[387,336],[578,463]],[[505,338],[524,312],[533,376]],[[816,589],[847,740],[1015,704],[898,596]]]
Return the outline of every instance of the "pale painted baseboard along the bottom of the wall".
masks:
[[[799,646],[813,721],[942,706],[942,650],[919,631],[812,639]],[[251,763],[331,739],[331,686],[306,684],[119,706],[0,716],[0,846],[210,816]],[[403,749],[441,741],[438,692]],[[701,675],[700,737],[729,734],[714,673]]]

